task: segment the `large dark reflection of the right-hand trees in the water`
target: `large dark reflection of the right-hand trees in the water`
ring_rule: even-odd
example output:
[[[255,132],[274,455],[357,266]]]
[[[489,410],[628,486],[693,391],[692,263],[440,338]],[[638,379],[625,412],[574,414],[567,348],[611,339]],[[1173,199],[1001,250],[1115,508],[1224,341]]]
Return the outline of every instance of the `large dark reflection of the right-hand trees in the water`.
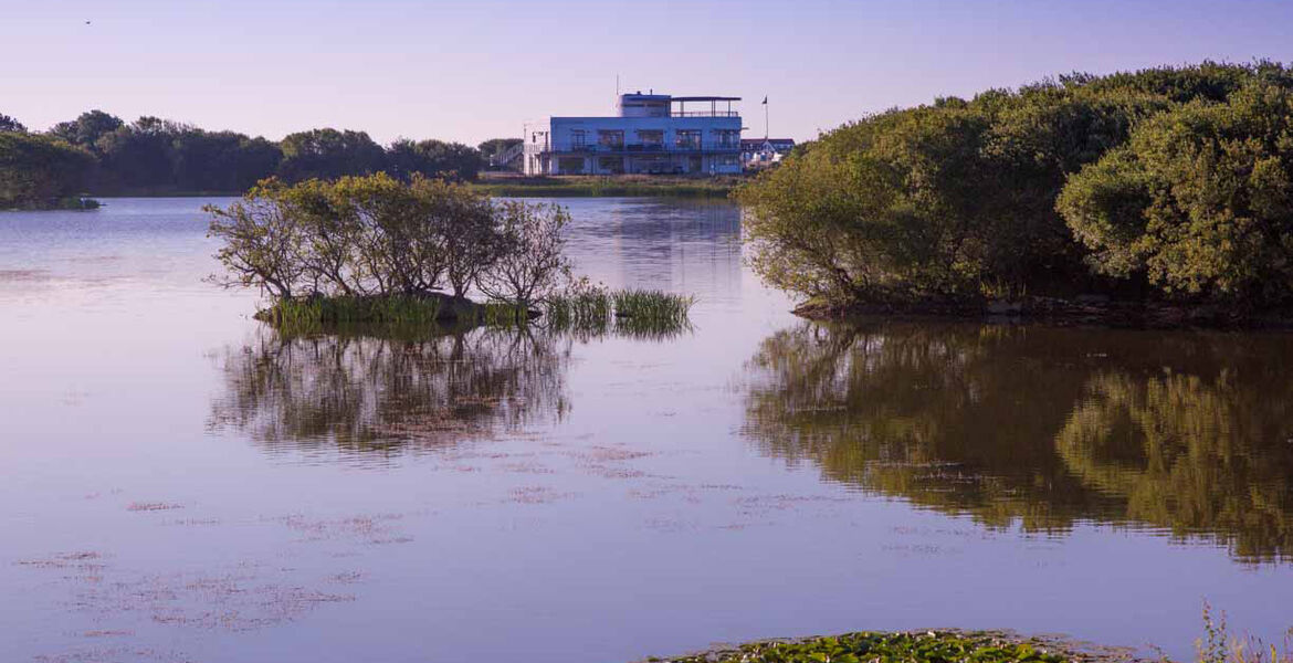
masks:
[[[1076,522],[1293,558],[1284,335],[803,324],[751,359],[746,433],[866,491],[989,526]]]

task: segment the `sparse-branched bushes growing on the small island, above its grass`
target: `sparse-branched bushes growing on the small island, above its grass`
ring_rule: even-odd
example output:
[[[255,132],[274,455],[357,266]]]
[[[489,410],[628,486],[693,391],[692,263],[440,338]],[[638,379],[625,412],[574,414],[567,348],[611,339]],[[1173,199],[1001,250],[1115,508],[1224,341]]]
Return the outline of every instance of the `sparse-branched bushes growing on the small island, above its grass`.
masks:
[[[207,207],[225,286],[275,300],[427,296],[472,287],[528,305],[569,275],[564,209],[495,203],[460,185],[385,173],[261,182],[228,208]]]

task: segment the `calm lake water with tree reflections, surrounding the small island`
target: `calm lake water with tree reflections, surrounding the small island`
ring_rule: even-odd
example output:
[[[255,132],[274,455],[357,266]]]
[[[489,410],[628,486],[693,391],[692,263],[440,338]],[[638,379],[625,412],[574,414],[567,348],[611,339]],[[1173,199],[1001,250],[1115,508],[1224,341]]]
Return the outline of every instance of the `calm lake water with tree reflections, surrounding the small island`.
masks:
[[[0,215],[4,660],[1293,626],[1290,336],[812,326],[734,208],[603,199],[581,270],[692,332],[283,339],[204,202]]]

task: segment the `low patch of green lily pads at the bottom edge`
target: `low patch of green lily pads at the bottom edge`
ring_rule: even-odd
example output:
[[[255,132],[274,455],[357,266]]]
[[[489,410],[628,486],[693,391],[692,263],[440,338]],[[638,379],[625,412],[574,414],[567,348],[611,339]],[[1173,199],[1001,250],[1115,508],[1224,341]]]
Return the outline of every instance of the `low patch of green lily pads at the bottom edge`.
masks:
[[[993,633],[859,632],[798,641],[763,641],[670,663],[1062,663],[1046,645]]]

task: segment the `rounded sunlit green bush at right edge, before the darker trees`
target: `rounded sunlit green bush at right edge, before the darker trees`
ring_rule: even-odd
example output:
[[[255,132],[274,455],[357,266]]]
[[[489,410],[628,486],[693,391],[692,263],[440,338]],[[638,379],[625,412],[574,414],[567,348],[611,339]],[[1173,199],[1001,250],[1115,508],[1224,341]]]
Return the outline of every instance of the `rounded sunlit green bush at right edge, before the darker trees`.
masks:
[[[1293,296],[1293,93],[1252,81],[1140,125],[1059,199],[1091,265],[1169,296]]]

